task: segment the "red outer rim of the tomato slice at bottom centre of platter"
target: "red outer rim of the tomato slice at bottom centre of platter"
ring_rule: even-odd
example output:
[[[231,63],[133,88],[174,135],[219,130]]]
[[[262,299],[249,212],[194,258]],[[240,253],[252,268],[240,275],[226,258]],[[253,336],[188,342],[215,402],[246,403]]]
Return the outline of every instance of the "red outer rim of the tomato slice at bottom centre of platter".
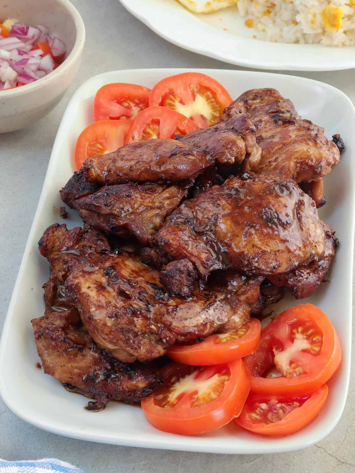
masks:
[[[178,364],[173,362],[161,370],[166,379]],[[219,429],[238,416],[250,391],[243,361],[228,363],[231,377],[219,398],[202,407],[182,406],[163,408],[154,403],[155,394],[142,399],[142,409],[149,422],[157,429],[181,435],[195,435]]]

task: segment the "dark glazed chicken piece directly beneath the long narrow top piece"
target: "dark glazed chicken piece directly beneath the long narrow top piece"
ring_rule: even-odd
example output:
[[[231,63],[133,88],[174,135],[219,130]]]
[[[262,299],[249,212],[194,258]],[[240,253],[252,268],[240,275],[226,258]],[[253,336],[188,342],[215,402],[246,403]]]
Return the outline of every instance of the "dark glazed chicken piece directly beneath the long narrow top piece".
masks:
[[[89,225],[116,236],[133,235],[142,245],[186,197],[187,187],[167,184],[119,184],[101,188],[77,201]]]

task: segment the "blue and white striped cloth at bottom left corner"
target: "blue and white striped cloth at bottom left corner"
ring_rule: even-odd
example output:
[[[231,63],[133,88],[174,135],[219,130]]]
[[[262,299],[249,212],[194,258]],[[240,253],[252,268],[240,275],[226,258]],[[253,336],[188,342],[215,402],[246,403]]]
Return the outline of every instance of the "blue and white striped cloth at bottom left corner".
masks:
[[[0,458],[0,473],[83,473],[83,471],[55,458],[24,462],[7,462]]]

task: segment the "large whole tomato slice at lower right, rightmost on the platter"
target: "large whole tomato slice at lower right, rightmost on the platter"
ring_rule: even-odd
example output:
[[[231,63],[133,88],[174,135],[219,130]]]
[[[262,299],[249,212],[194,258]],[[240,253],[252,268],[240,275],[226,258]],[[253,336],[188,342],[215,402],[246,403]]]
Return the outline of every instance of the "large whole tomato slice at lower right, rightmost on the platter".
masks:
[[[312,304],[291,307],[261,331],[244,358],[254,393],[299,395],[318,389],[337,370],[341,348],[328,317]],[[278,377],[269,377],[278,370]],[[274,376],[274,375],[273,375]]]

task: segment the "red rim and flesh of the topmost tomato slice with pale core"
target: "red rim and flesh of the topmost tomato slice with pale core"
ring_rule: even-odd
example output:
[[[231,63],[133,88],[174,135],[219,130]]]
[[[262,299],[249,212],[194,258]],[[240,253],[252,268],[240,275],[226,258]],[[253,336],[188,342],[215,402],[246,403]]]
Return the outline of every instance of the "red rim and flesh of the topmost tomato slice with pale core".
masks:
[[[231,105],[231,96],[217,80],[200,72],[184,72],[160,80],[151,90],[149,106],[163,106],[164,96],[171,92],[177,94],[182,99],[183,104],[192,104],[194,96],[190,84],[209,90],[215,101],[220,105],[220,114],[222,114],[224,107]],[[195,113],[186,116],[195,122],[197,128],[210,126],[201,112],[195,111]]]

